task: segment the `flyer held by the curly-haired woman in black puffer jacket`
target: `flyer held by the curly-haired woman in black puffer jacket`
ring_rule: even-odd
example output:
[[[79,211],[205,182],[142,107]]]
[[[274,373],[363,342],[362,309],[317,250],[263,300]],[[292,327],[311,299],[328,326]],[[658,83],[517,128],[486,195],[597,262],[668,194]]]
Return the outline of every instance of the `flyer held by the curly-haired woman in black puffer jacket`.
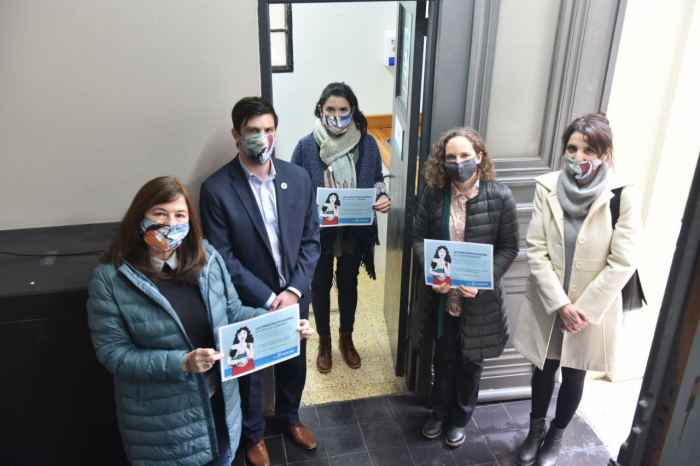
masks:
[[[493,289],[493,245],[423,240],[425,283]]]

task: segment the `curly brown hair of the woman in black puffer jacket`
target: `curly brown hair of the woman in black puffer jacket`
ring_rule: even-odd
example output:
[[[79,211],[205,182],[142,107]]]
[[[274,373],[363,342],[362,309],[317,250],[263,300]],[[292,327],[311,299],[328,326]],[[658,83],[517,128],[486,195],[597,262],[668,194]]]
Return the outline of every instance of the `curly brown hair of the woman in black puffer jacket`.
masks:
[[[457,136],[467,138],[469,142],[472,143],[472,146],[474,146],[474,152],[476,152],[477,155],[481,152],[481,162],[476,166],[479,179],[482,181],[496,179],[496,170],[493,167],[493,161],[491,160],[489,151],[486,150],[484,140],[474,128],[460,126],[443,133],[440,140],[436,142],[430,150],[428,160],[425,162],[425,181],[429,185],[437,188],[445,187],[447,181],[447,175],[445,174],[445,147],[447,143],[450,142],[450,139]]]

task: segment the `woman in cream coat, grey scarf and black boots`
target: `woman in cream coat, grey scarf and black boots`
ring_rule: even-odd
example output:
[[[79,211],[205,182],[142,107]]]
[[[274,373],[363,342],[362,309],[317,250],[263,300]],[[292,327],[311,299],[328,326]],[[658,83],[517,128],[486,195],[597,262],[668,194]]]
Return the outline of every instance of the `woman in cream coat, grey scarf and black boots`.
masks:
[[[636,269],[642,219],[636,191],[612,173],[612,131],[604,113],[574,120],[562,137],[565,169],[537,179],[527,233],[530,276],[513,344],[537,368],[530,432],[518,464],[555,465],[586,371],[614,370],[621,291]],[[620,193],[612,226],[610,201]],[[557,369],[562,385],[549,431],[545,415]],[[547,434],[545,434],[547,432]]]

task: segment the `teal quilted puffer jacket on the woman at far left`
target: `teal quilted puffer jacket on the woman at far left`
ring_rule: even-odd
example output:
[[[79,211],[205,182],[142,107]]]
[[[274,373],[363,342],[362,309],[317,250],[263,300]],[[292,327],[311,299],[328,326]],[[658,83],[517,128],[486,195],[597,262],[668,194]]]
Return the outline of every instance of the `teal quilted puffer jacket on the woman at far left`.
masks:
[[[223,259],[206,241],[204,246],[207,266],[198,282],[218,345],[220,326],[267,311],[241,304]],[[119,268],[101,264],[89,295],[92,343],[114,374],[119,430],[131,464],[189,466],[218,457],[204,376],[182,370],[195,348],[158,288],[126,262]],[[238,382],[222,387],[233,454],[241,434]]]

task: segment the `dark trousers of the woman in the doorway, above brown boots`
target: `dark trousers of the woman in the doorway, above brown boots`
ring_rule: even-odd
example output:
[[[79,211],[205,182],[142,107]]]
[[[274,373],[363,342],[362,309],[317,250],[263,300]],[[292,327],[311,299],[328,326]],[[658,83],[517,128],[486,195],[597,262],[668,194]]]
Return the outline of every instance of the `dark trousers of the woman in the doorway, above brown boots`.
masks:
[[[316,265],[311,282],[311,302],[314,306],[316,330],[319,335],[331,333],[331,288],[333,287],[333,254],[323,254]],[[357,310],[357,276],[360,273],[359,254],[343,253],[338,257],[335,280],[338,287],[340,331],[352,333]]]

